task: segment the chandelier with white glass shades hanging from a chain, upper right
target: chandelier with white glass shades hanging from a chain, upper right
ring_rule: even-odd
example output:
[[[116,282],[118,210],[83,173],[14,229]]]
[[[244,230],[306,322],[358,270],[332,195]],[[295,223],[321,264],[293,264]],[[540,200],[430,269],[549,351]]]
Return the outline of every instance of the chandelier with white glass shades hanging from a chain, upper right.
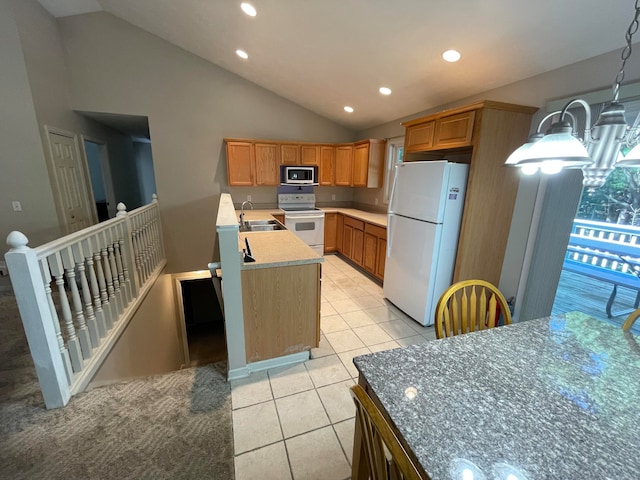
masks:
[[[638,119],[630,128],[624,118],[624,106],[618,102],[620,85],[624,80],[624,67],[631,56],[631,40],[638,30],[640,17],[640,0],[636,0],[635,14],[626,33],[627,45],[622,50],[622,66],[616,75],[613,86],[613,100],[598,116],[591,127],[591,109],[589,104],[576,98],[569,101],[562,110],[545,116],[527,143],[514,151],[505,165],[522,169],[525,174],[533,174],[538,170],[543,173],[558,173],[563,168],[581,168],[583,184],[589,188],[604,185],[609,174],[616,166],[640,166],[640,134]],[[578,125],[574,115],[569,112],[573,106],[581,106],[585,110],[585,131],[582,138],[577,133]],[[558,117],[546,133],[541,132],[547,120]],[[639,116],[640,118],[640,116]],[[626,157],[620,158],[623,145],[635,147]]]

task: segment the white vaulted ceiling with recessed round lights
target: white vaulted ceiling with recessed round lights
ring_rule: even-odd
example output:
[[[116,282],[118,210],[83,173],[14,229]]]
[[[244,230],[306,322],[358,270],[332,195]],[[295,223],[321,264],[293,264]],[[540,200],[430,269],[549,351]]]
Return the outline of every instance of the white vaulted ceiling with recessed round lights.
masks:
[[[632,0],[250,0],[255,17],[239,0],[39,1],[56,17],[106,11],[354,130],[621,49],[634,13]],[[457,63],[441,58],[451,48]]]

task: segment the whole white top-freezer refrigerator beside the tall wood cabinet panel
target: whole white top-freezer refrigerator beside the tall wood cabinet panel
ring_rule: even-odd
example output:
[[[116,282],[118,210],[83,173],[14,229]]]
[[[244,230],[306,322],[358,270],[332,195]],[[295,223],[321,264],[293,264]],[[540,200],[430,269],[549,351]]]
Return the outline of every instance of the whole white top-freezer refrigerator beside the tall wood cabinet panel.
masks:
[[[396,167],[387,220],[385,297],[422,325],[451,285],[468,165],[446,160]]]

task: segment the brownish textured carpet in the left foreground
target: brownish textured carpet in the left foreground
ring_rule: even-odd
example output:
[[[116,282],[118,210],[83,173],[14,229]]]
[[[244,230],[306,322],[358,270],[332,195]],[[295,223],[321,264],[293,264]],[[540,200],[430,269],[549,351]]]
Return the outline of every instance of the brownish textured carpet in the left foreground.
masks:
[[[233,479],[224,364],[96,388],[46,410],[0,289],[1,479]]]

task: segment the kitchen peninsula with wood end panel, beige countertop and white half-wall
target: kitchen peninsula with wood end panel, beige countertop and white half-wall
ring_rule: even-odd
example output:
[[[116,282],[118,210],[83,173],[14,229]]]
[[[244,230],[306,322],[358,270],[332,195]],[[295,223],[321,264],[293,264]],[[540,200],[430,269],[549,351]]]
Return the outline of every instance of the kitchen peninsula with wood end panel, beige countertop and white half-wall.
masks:
[[[247,211],[246,220],[269,220]],[[320,340],[320,265],[323,258],[288,230],[240,232],[229,194],[222,194],[216,221],[229,379],[298,363]],[[249,240],[254,261],[244,261]]]

